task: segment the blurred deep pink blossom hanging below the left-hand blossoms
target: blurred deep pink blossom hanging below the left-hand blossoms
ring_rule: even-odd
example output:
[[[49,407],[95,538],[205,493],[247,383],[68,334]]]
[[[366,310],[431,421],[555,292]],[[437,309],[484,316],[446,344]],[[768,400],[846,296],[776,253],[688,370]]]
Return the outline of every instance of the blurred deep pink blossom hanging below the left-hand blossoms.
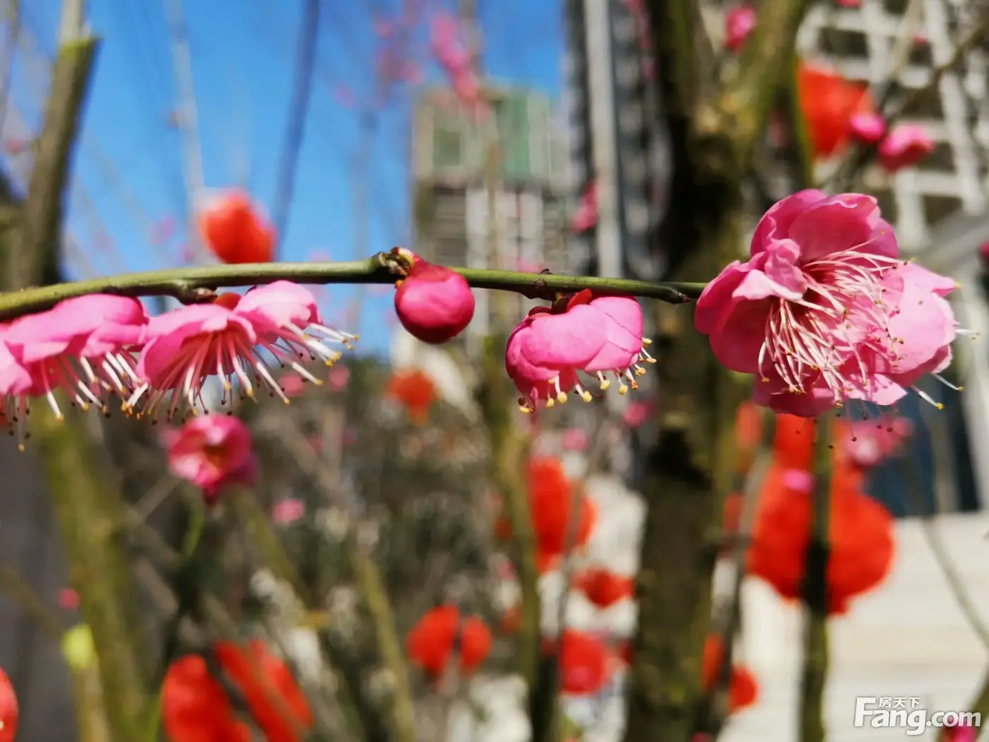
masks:
[[[165,430],[162,440],[169,471],[202,489],[207,504],[215,503],[227,485],[254,484],[257,463],[250,429],[237,417],[193,417]]]

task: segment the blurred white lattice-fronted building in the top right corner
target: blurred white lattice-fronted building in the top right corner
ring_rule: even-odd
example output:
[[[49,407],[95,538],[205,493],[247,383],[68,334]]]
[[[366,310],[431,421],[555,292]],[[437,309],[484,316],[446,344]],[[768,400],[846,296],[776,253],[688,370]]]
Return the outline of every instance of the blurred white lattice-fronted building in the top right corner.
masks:
[[[978,3],[950,0],[862,0],[855,8],[815,5],[801,28],[803,55],[835,66],[845,77],[895,94],[927,86],[956,43],[977,23]],[[989,118],[986,117],[985,49],[968,52],[955,72],[908,107],[901,123],[917,123],[935,139],[935,152],[916,168],[889,176],[878,167],[865,173],[868,192],[896,227],[904,250],[923,253],[934,230],[958,212],[987,208]],[[894,79],[890,81],[891,74]],[[821,176],[830,167],[823,164]]]

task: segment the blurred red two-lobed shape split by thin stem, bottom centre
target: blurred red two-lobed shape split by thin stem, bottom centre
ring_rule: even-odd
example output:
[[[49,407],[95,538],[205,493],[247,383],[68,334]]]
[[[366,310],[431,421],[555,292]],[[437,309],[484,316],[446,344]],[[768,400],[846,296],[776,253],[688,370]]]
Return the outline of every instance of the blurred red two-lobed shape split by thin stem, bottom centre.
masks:
[[[419,618],[405,639],[405,651],[423,671],[439,677],[450,662],[458,633],[460,671],[473,673],[488,659],[492,633],[480,618],[468,616],[461,621],[455,605],[439,605]]]

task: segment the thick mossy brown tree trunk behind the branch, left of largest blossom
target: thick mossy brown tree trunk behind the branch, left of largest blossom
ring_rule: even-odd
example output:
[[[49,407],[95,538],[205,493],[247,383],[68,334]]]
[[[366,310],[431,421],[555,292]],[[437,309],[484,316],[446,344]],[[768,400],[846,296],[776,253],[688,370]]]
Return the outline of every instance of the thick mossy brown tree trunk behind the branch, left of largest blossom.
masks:
[[[739,72],[716,98],[696,103],[695,136],[674,158],[661,233],[671,280],[710,279],[737,259],[745,222],[744,174],[809,4],[764,3]],[[653,19],[654,27],[662,25]],[[642,487],[649,509],[636,585],[639,626],[625,740],[689,742],[702,701],[700,657],[711,620],[709,535],[732,486],[735,411],[749,387],[717,362],[706,338],[690,326],[688,313],[658,307],[657,324],[662,357],[655,368],[663,400]]]

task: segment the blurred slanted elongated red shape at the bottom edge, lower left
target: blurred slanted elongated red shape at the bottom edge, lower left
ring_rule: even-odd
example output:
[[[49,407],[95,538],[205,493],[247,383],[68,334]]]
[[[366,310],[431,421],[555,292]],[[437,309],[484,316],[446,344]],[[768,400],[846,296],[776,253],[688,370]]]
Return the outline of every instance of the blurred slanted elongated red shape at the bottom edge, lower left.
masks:
[[[313,711],[282,659],[256,640],[244,645],[217,642],[213,651],[268,742],[305,739]]]

